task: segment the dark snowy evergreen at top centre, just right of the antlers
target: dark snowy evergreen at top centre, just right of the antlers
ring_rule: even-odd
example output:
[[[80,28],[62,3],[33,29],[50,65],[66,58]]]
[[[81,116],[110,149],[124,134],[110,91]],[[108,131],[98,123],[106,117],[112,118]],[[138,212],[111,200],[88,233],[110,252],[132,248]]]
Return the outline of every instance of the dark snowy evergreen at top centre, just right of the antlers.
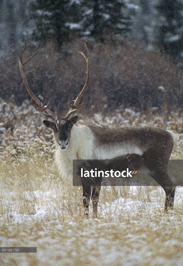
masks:
[[[81,33],[100,40],[109,33],[119,34],[130,30],[130,18],[124,1],[85,0],[82,6]]]

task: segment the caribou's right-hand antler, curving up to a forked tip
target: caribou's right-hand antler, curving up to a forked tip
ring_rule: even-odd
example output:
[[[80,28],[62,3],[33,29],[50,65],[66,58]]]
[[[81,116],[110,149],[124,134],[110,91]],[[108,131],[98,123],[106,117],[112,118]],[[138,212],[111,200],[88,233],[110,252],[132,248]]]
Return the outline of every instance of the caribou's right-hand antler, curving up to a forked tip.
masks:
[[[86,38],[86,39],[88,40],[88,38]],[[87,43],[86,43],[85,40],[84,40],[84,42],[80,42],[80,43],[84,44],[84,46],[86,47],[86,50],[87,50],[87,52],[77,51],[78,53],[82,54],[82,56],[84,57],[84,59],[86,60],[86,63],[87,63],[87,78],[86,78],[86,82],[85,82],[85,85],[84,85],[83,89],[79,93],[79,95],[77,95],[77,98],[74,101],[74,104],[73,105],[70,105],[69,104],[70,105],[70,110],[67,112],[66,116],[65,117],[60,117],[60,116],[58,116],[59,113],[57,112],[57,116],[59,117],[59,120],[61,120],[61,119],[63,119],[63,120],[68,119],[68,117],[71,114],[73,114],[78,109],[80,109],[81,106],[83,106],[84,103],[85,103],[85,99],[84,99],[84,96],[83,95],[84,95],[85,91],[87,90],[88,85],[89,85],[89,82],[90,82],[90,61],[89,61],[89,54],[90,54],[90,51],[91,51],[91,42],[88,40],[89,47],[88,47],[88,45],[87,45]],[[82,97],[83,97],[83,102],[81,103],[81,98]]]

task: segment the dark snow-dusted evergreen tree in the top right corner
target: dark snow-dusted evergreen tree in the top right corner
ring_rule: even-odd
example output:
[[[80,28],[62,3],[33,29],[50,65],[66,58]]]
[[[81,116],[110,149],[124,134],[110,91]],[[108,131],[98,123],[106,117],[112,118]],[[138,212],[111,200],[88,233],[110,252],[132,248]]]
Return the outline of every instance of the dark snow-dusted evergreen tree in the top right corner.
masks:
[[[156,45],[173,58],[183,58],[183,2],[163,0],[157,5]]]

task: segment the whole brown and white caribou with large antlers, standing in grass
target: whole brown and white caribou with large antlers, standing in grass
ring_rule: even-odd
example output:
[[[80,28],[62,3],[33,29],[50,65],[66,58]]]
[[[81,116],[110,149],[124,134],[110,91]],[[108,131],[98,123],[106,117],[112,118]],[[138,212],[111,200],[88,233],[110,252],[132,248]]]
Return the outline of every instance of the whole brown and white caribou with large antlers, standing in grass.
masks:
[[[78,51],[87,64],[86,82],[77,95],[74,104],[70,105],[67,114],[62,117],[59,114],[59,105],[54,115],[48,108],[49,102],[41,103],[32,93],[28,85],[26,76],[39,67],[32,68],[26,72],[23,66],[26,65],[37,53],[35,52],[29,59],[23,62],[25,50],[31,45],[23,47],[20,53],[20,73],[27,92],[31,96],[32,106],[50,120],[44,120],[46,127],[51,128],[56,145],[56,162],[60,173],[64,176],[72,174],[72,163],[74,159],[98,160],[98,159],[120,159],[124,156],[138,156],[142,159],[143,165],[149,169],[149,173],[155,170],[154,174],[149,174],[165,191],[164,211],[173,208],[175,185],[167,173],[167,161],[170,159],[174,147],[173,133],[170,131],[154,127],[121,127],[103,128],[92,124],[76,126],[78,116],[72,116],[84,105],[84,93],[90,82],[90,52],[91,43],[88,40],[80,42],[85,47],[85,51]],[[153,159],[154,163],[149,163]],[[164,170],[160,169],[159,162],[164,163]],[[101,189],[101,181],[81,179],[83,186],[84,214],[88,216],[90,198],[93,205],[93,218],[97,218],[97,205]]]

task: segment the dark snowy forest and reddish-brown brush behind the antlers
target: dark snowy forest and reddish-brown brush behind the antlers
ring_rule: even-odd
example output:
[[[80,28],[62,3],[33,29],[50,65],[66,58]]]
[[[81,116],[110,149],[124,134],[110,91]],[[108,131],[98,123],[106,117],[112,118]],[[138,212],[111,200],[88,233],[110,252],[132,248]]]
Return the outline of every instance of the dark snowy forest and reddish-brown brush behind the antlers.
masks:
[[[183,2],[176,0],[3,0],[0,3],[1,97],[22,104],[20,49],[39,49],[27,77],[35,95],[68,108],[85,82],[77,50],[92,43],[91,82],[85,111],[167,112],[183,106]],[[29,54],[27,53],[27,57]]]

